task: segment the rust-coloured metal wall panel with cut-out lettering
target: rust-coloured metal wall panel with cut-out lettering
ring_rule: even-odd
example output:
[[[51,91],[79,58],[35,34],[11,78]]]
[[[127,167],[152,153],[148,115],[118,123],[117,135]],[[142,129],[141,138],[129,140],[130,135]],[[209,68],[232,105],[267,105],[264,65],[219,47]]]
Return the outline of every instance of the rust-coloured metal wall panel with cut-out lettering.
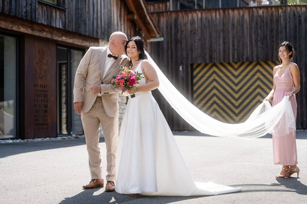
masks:
[[[21,138],[56,137],[56,42],[32,36],[24,42]]]

